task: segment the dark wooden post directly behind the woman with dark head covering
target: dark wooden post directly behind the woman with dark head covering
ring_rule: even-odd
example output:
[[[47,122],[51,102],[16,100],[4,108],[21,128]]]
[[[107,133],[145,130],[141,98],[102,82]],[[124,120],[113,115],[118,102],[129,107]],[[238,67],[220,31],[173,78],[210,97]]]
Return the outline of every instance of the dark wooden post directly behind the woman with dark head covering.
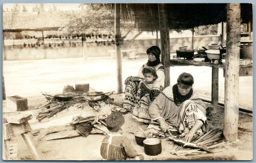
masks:
[[[164,87],[170,86],[170,67],[166,67],[165,61],[170,60],[170,30],[168,24],[167,4],[158,4],[159,28],[161,40],[161,63],[164,65],[165,80]]]

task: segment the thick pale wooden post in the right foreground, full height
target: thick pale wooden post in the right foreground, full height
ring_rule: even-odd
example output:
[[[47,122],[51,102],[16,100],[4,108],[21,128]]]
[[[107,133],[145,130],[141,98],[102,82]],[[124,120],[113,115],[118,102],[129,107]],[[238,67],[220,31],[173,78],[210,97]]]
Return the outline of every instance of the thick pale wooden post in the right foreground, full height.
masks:
[[[238,138],[240,41],[241,6],[240,3],[228,3],[223,122],[223,134],[228,141]]]

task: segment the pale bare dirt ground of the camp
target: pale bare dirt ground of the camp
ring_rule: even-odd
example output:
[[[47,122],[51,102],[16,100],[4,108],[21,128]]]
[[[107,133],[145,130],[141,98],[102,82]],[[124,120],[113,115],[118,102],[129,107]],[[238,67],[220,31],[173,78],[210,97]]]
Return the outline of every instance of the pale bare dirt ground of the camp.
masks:
[[[138,67],[145,62],[145,57],[138,60],[124,59],[123,67],[123,81],[126,76],[136,75]],[[36,115],[37,107],[47,103],[47,100],[42,96],[42,92],[58,94],[62,92],[65,85],[73,85],[74,83],[89,83],[90,87],[97,91],[114,91],[116,89],[115,75],[115,60],[98,58],[84,61],[83,58],[66,58],[66,59],[50,59],[50,60],[34,60],[34,61],[4,61],[3,62],[3,76],[5,79],[6,96],[19,95],[28,99],[28,110],[23,113],[33,115],[33,119],[29,120],[32,130],[42,131],[50,126],[65,125],[72,121],[73,116],[76,115],[96,115],[103,113],[110,113],[112,105],[102,104],[100,112],[94,112],[90,108],[77,109],[70,108],[61,111],[56,116],[46,118],[38,122]],[[97,65],[101,65],[97,68]],[[127,70],[129,69],[129,71]],[[18,70],[18,71],[17,71]],[[99,71],[100,70],[100,71]],[[175,71],[176,70],[176,71]],[[186,71],[187,70],[187,71]],[[210,94],[209,78],[211,69],[190,68],[182,66],[180,69],[171,67],[171,85],[176,82],[177,76],[180,72],[192,72],[195,77],[195,90],[200,90],[200,93]],[[22,73],[21,73],[22,72]],[[221,71],[220,71],[221,72]],[[199,74],[199,75],[197,75]],[[203,78],[202,74],[206,74]],[[222,96],[222,82],[223,74],[219,73],[219,94]],[[15,80],[19,78],[19,81]],[[200,84],[196,84],[200,81]],[[252,76],[242,77],[240,83],[242,87],[251,87],[247,91],[240,89],[239,99],[240,103],[252,108]],[[239,85],[240,86],[240,85]],[[240,87],[241,88],[241,87]],[[122,101],[122,94],[114,93],[111,95],[116,101]],[[224,95],[223,95],[224,96]],[[241,97],[241,98],[240,98]],[[208,104],[210,106],[210,104]],[[11,111],[6,107],[6,101],[3,100],[3,112]],[[210,127],[222,128],[222,121],[224,116],[224,109],[221,106],[215,107],[207,116]],[[132,119],[132,114],[127,113],[125,117],[123,133],[134,145],[138,152],[144,152],[144,148],[136,144],[134,139],[134,132],[139,131],[139,127],[146,129],[145,124],[135,122]],[[253,157],[253,117],[252,114],[239,112],[239,128],[247,129],[238,130],[238,140],[228,143],[221,152],[212,154],[200,155],[196,160],[251,160]],[[248,131],[249,130],[249,131]],[[88,137],[75,137],[69,139],[60,139],[52,141],[38,141],[38,148],[43,153],[44,160],[101,160],[99,148],[101,140],[104,138],[103,134],[91,134]],[[37,136],[35,135],[35,139]],[[21,136],[16,136],[11,139],[11,143],[18,144],[18,151],[21,160],[33,160],[32,154],[26,147],[25,142]],[[162,153],[157,156],[147,156],[148,160],[184,160],[177,155],[170,153],[173,143],[167,139],[162,139]],[[186,158],[193,160],[192,158]]]

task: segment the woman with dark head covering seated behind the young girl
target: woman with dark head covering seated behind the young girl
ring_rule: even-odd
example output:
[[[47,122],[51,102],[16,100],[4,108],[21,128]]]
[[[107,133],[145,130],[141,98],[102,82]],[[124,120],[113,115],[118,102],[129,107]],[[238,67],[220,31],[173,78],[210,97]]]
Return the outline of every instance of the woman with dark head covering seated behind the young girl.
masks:
[[[139,69],[137,76],[129,76],[124,82],[125,90],[123,108],[128,111],[132,111],[133,108],[138,105],[139,100],[136,99],[136,94],[138,91],[138,84],[144,78],[142,74],[144,67],[154,67],[158,75],[156,85],[164,87],[164,66],[160,62],[161,50],[158,46],[151,46],[146,50],[146,54],[148,54],[148,61]]]

